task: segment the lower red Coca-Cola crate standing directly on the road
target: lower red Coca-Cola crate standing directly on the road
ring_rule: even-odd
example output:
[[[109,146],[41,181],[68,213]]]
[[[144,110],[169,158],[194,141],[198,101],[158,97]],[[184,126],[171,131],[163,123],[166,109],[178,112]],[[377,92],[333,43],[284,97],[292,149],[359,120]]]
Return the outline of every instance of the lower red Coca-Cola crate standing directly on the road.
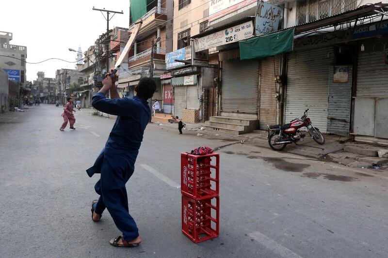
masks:
[[[182,232],[194,243],[218,237],[220,199],[194,200],[182,195]]]

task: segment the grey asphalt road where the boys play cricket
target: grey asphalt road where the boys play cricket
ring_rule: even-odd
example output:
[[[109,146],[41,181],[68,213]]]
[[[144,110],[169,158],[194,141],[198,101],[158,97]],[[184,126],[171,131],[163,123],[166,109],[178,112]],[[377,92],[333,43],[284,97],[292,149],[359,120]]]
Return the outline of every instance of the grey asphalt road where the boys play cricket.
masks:
[[[113,119],[76,113],[60,132],[62,108],[0,115],[0,257],[387,257],[388,175],[267,148],[205,139],[149,124],[127,184],[143,238],[136,248],[109,213],[91,220],[90,167]],[[221,147],[220,236],[192,243],[181,233],[180,152]],[[228,146],[226,146],[228,145]],[[224,147],[222,147],[224,146]]]

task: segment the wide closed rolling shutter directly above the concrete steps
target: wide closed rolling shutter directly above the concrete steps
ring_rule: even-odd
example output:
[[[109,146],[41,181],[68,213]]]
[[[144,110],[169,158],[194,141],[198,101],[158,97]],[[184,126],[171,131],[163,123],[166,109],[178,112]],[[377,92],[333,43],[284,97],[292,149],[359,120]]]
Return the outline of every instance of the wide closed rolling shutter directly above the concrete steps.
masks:
[[[258,88],[258,60],[223,62],[222,112],[257,114]]]

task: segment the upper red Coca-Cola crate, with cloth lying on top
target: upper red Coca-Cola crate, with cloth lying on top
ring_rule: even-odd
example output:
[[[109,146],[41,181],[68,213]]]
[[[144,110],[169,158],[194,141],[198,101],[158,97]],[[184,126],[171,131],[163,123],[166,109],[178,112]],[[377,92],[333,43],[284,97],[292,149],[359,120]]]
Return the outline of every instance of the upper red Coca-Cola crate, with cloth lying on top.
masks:
[[[180,160],[183,195],[192,199],[219,195],[220,155],[218,153],[207,155],[181,153]]]

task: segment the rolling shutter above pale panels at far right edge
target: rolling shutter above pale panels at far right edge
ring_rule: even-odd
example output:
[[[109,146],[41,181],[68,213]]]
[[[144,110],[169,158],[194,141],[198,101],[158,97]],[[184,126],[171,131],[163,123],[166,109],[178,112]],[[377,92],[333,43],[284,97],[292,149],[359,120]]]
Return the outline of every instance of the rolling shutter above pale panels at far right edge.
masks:
[[[373,46],[373,43],[365,45]],[[385,63],[384,53],[359,52],[356,94],[357,98],[388,97],[388,64]]]

